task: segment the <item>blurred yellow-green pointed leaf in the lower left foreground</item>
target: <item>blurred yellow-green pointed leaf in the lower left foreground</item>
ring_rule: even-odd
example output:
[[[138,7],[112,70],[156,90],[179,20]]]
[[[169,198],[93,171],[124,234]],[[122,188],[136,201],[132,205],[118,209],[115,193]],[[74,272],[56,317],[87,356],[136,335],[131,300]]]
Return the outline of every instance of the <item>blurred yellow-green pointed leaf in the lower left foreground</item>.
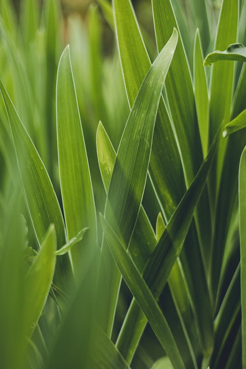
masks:
[[[51,288],[56,246],[55,228],[51,225],[24,280],[24,331],[28,338],[31,338],[37,325]]]

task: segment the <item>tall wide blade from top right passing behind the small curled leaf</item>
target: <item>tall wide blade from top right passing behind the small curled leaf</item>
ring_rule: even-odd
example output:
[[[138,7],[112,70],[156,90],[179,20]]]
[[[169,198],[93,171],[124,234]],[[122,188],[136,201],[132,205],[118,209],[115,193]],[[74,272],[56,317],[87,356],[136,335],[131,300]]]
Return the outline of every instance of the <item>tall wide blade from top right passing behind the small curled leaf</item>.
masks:
[[[237,37],[237,24],[238,24],[238,1],[223,0],[219,22],[217,26],[217,33],[215,39],[215,49],[224,50],[230,43],[236,42]],[[209,126],[209,141],[213,139],[217,127],[220,126],[222,121],[226,124],[230,120],[230,109],[232,101],[233,91],[233,75],[234,75],[234,63],[228,63],[226,61],[213,64],[211,72],[210,83],[210,126]],[[219,198],[216,202],[216,193],[220,185],[222,163],[224,160],[224,154],[227,141],[220,140],[218,153],[214,162],[211,178],[210,189],[212,203],[216,204],[215,209],[215,230],[223,230],[222,232],[216,231],[212,240],[212,254],[210,261],[210,279],[213,299],[216,299],[217,287],[219,283],[221,263],[223,259],[225,237],[227,228],[223,222],[227,221],[227,216],[221,217],[221,214],[228,214],[227,211],[221,208],[226,206],[224,200],[220,199],[221,189],[219,189]],[[225,163],[228,165],[228,163]],[[235,177],[234,177],[235,178]],[[221,181],[221,185],[222,181]],[[228,214],[230,216],[230,214]]]

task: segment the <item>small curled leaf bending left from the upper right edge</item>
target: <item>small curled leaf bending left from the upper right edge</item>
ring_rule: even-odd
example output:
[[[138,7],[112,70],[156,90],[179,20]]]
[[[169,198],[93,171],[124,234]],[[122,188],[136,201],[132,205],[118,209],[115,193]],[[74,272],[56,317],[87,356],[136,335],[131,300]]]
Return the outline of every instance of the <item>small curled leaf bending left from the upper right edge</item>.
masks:
[[[225,51],[214,51],[206,56],[204,65],[210,66],[222,60],[246,62],[246,46],[237,43],[229,45]]]

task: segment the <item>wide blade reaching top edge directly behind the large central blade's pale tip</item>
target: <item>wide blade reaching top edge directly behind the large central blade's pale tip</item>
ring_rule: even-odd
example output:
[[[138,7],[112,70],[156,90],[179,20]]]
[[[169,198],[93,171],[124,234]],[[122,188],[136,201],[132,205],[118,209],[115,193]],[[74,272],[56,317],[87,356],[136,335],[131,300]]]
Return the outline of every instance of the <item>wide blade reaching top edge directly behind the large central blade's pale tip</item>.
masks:
[[[160,50],[170,37],[173,27],[178,29],[178,25],[170,0],[153,0],[152,3],[156,42]],[[167,74],[165,89],[183,159],[185,181],[189,185],[203,157],[191,75],[181,37]]]

